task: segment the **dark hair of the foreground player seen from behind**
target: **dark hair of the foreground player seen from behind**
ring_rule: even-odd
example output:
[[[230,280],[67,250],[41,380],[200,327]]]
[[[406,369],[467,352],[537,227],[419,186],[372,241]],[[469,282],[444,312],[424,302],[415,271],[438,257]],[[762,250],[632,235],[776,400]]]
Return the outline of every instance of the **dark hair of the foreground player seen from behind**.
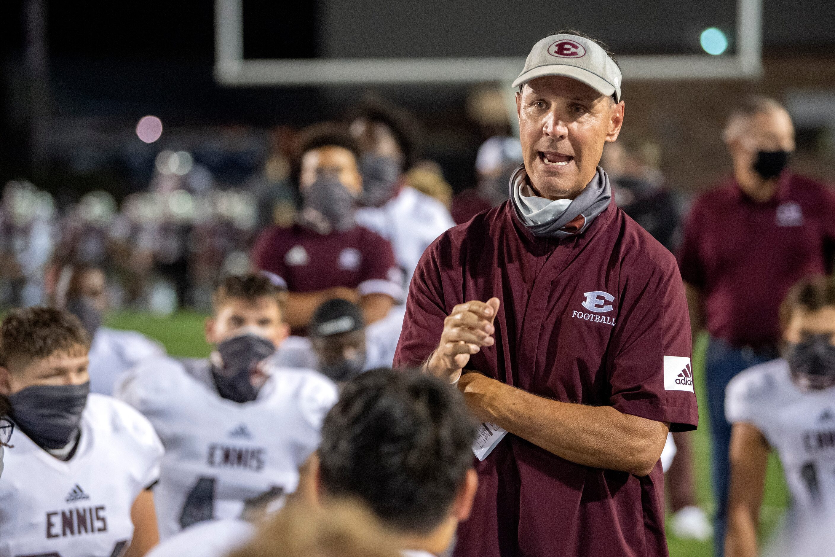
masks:
[[[394,528],[425,534],[449,513],[474,438],[463,397],[448,384],[420,372],[365,372],[325,418],[321,483]]]

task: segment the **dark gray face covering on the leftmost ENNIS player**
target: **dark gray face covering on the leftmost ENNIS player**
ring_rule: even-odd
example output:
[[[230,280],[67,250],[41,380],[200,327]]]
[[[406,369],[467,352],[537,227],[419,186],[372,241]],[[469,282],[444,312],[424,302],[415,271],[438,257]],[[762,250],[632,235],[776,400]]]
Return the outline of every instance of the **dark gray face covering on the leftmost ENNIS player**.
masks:
[[[33,385],[9,395],[12,419],[38,447],[53,450],[67,446],[81,422],[90,383],[82,385]]]

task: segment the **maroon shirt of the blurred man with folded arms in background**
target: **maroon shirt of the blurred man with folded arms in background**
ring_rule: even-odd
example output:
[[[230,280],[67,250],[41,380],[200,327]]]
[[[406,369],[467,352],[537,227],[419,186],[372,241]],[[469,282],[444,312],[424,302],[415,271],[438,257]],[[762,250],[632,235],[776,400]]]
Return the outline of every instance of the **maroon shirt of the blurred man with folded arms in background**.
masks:
[[[403,274],[392,245],[359,225],[328,235],[301,225],[271,226],[258,236],[252,260],[261,271],[280,276],[291,292],[346,286],[361,296],[403,297]]]

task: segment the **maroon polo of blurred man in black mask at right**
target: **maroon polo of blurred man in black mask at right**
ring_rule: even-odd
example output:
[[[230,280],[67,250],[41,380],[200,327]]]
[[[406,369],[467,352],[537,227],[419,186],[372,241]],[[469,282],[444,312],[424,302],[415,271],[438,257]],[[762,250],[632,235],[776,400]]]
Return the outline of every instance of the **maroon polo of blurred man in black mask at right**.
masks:
[[[775,347],[788,289],[822,275],[835,244],[835,196],[784,172],[777,193],[758,203],[733,180],[702,195],[685,225],[681,277],[701,289],[712,337],[741,347]]]

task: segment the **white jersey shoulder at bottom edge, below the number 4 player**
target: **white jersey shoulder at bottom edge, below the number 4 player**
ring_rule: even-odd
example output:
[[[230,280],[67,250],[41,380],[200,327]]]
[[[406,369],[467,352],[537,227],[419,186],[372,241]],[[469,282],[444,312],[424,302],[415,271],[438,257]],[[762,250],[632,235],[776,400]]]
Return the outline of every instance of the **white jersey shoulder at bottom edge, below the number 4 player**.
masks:
[[[242,519],[201,522],[165,539],[146,557],[226,557],[255,535],[255,525]]]

